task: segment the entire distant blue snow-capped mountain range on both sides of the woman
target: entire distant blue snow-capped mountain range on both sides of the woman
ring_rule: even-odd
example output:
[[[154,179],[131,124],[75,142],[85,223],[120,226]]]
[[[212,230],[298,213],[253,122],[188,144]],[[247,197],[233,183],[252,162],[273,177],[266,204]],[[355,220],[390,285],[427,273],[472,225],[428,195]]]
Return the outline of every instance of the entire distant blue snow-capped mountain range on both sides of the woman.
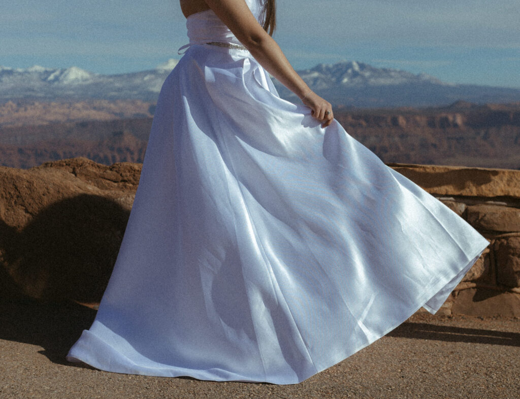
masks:
[[[154,102],[166,76],[177,64],[170,59],[148,71],[103,75],[78,67],[27,69],[0,67],[0,102],[8,100],[141,100]],[[427,107],[463,100],[473,103],[520,101],[520,89],[452,84],[413,74],[345,61],[298,71],[311,89],[334,105],[357,108]],[[275,81],[280,96],[297,98]]]

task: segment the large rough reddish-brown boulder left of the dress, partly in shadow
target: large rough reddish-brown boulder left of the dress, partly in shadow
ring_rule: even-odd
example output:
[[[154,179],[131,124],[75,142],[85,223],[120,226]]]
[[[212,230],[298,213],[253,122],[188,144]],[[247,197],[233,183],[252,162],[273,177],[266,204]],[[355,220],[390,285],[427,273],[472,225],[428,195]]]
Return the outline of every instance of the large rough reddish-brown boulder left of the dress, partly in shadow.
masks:
[[[87,158],[0,167],[0,297],[98,301],[140,171]]]

